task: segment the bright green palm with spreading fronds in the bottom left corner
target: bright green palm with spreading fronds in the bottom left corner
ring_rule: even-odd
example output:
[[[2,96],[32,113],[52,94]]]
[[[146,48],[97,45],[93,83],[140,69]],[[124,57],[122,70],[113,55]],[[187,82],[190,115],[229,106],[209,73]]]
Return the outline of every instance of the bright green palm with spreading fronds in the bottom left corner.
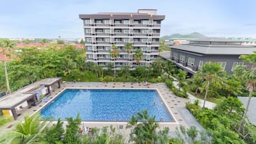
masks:
[[[4,143],[38,143],[44,137],[44,130],[49,122],[41,121],[39,113],[32,117],[25,116],[24,123],[18,123],[14,131],[7,132],[4,136]]]

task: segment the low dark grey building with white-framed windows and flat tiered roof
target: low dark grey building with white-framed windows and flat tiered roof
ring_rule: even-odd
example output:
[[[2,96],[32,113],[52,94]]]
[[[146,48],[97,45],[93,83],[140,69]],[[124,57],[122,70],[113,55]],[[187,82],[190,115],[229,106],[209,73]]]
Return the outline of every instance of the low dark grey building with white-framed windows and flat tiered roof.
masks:
[[[171,46],[171,60],[192,75],[207,62],[217,62],[223,70],[232,73],[240,65],[250,68],[250,64],[245,64],[239,57],[254,54],[254,51],[256,47],[242,45],[242,41],[206,38]]]

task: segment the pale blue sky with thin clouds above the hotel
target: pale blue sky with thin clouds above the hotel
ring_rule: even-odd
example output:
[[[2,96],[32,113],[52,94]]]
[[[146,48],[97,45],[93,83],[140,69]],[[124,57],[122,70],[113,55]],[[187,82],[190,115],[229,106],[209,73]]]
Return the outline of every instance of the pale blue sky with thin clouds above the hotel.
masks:
[[[8,0],[1,1],[0,37],[83,38],[79,14],[158,9],[161,36],[255,37],[255,0]]]

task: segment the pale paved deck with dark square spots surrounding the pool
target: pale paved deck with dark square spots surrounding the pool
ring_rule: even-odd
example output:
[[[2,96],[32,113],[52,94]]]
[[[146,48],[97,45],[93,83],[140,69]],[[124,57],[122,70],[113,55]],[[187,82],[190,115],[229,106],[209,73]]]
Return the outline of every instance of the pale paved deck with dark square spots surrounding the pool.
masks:
[[[197,130],[203,130],[202,126],[195,120],[194,116],[190,114],[188,110],[186,110],[186,102],[189,102],[189,99],[185,99],[182,97],[177,97],[174,95],[168,87],[166,87],[165,83],[150,83],[150,85],[144,86],[143,83],[138,82],[62,82],[61,88],[57,88],[57,85],[54,85],[52,90],[52,95],[50,95],[50,99],[54,99],[60,92],[65,90],[65,88],[109,88],[109,89],[157,89],[160,92],[160,95],[167,105],[168,109],[171,110],[171,115],[174,117],[176,122],[174,123],[159,123],[160,128],[169,127],[170,135],[175,135],[174,130],[179,125],[184,125],[186,128],[189,126],[196,126]],[[48,101],[50,102],[50,100]],[[11,123],[1,126],[0,135],[5,133],[6,131],[11,130],[15,127],[16,123],[24,120],[24,115],[32,115],[35,112],[39,111],[44,105],[47,105],[48,102],[40,102],[39,105],[33,106],[30,108],[24,108],[19,113],[19,117],[17,120],[13,120]],[[66,123],[65,123],[66,124]],[[126,122],[82,122],[81,128],[84,127],[98,127],[103,128],[104,126],[113,125],[120,128],[120,133],[123,133],[128,136],[130,130],[125,130]],[[123,127],[123,128],[122,128]]]

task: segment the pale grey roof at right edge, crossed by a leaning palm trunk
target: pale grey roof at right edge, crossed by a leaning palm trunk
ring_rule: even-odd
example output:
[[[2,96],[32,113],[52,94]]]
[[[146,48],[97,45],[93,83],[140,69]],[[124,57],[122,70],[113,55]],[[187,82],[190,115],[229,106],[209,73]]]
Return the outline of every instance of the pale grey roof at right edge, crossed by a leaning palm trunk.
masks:
[[[242,104],[244,104],[243,107],[247,106],[248,98],[249,97],[238,97],[238,99],[242,102]],[[253,125],[256,125],[255,112],[256,112],[256,97],[252,97],[247,115],[250,123],[252,123]]]

